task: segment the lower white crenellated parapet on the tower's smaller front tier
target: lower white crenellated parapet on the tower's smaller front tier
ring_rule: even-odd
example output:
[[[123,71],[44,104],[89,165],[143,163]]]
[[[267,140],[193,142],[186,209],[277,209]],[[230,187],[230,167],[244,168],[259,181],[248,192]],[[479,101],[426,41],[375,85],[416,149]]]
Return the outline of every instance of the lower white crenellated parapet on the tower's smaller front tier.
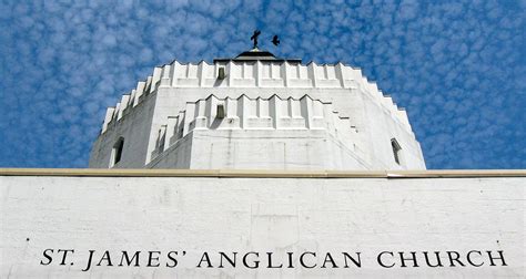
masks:
[[[301,99],[218,99],[210,95],[195,102],[188,102],[185,110],[170,116],[166,125],[159,128],[152,157],[176,144],[193,131],[203,130],[267,130],[267,131],[326,131],[338,138],[348,149],[355,151],[356,133],[348,117],[340,116],[331,102]]]

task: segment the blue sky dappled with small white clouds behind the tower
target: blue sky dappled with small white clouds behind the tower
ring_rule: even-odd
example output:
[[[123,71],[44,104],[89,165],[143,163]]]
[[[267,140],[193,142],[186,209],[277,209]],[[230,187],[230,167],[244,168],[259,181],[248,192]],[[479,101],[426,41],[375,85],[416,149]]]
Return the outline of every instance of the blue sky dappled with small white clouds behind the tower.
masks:
[[[428,168],[526,168],[526,1],[1,1],[0,167],[87,167],[107,106],[280,34],[407,108]]]

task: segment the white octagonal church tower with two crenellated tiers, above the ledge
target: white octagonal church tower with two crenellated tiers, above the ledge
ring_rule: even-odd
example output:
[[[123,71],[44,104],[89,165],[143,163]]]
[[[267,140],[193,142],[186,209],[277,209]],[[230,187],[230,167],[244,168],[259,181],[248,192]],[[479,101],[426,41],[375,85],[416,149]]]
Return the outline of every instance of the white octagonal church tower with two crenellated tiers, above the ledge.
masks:
[[[425,169],[403,108],[342,63],[254,48],[158,66],[109,107],[90,167]]]

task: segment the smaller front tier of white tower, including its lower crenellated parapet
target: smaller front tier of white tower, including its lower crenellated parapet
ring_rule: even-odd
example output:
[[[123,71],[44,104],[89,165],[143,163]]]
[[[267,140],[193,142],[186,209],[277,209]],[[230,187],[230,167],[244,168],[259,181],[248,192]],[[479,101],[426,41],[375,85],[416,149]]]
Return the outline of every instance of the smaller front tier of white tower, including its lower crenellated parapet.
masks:
[[[186,103],[169,122],[158,132],[148,168],[180,167],[184,158],[191,169],[372,169],[350,120],[308,95],[210,95]]]

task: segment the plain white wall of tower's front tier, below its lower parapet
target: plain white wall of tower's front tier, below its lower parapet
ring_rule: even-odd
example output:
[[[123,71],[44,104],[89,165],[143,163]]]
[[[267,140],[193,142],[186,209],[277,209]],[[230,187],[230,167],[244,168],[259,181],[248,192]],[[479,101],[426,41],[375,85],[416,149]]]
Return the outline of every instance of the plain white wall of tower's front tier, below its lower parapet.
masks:
[[[190,151],[190,152],[189,152]],[[371,169],[326,130],[194,130],[148,168]]]

